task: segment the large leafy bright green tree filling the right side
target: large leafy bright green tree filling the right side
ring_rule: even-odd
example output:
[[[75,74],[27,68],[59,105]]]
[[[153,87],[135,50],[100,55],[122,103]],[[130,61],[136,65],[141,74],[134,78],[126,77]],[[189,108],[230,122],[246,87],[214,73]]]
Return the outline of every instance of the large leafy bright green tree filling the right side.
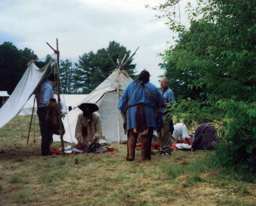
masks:
[[[188,4],[188,29],[173,18],[170,8],[178,3],[169,0],[156,8],[165,11],[172,31],[180,32],[177,44],[163,54],[164,68],[170,69],[167,75],[193,74],[187,88],[199,95],[170,111],[185,120],[218,123],[222,136],[216,152],[222,163],[255,170],[256,2],[198,0],[194,9]]]

